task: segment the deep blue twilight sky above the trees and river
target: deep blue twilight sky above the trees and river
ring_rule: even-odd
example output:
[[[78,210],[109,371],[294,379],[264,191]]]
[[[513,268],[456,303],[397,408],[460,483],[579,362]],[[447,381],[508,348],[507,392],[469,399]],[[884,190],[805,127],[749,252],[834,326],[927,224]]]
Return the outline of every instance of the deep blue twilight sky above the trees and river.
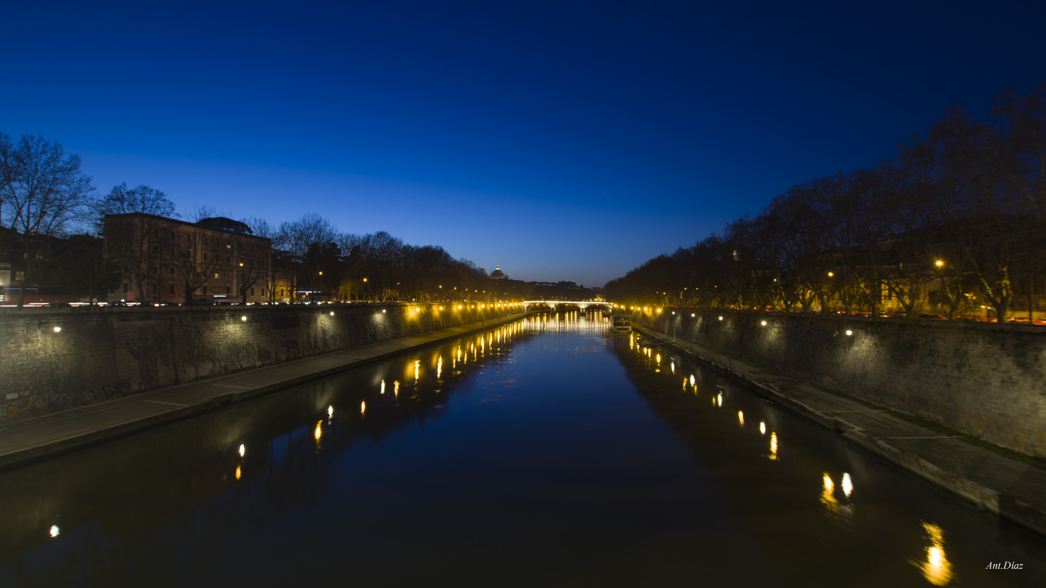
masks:
[[[1046,2],[6,2],[0,131],[99,191],[589,286],[1046,81]]]

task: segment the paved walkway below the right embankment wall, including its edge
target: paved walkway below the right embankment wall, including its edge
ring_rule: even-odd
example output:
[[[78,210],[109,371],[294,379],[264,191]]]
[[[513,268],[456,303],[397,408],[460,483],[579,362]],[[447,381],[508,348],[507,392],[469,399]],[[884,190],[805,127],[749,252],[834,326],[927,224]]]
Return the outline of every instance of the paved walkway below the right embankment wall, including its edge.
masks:
[[[653,343],[740,380],[756,393],[833,429],[982,510],[1046,535],[1046,461],[745,361],[633,325]]]

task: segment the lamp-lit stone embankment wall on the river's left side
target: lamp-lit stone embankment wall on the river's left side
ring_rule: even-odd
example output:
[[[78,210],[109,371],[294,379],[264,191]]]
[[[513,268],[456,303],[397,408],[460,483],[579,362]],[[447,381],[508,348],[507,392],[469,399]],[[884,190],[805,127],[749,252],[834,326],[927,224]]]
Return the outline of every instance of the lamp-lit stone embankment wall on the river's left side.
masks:
[[[0,422],[520,312],[449,302],[3,309]]]

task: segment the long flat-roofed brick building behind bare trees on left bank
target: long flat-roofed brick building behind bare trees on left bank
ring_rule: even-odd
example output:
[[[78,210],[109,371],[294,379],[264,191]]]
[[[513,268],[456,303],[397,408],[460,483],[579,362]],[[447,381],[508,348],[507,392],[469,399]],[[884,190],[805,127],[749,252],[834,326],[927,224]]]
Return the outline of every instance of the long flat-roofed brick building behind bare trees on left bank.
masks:
[[[183,302],[197,299],[263,302],[272,282],[272,242],[243,223],[187,223],[142,212],[104,220],[106,257],[120,271],[110,300]]]

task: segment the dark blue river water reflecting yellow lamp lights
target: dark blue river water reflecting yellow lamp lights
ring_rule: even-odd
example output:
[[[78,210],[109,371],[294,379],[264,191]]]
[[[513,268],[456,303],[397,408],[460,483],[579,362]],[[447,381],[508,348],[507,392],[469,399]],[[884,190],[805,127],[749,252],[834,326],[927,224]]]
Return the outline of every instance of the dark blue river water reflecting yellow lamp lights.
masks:
[[[1040,536],[576,313],[0,473],[0,504],[4,587],[1046,586]]]

